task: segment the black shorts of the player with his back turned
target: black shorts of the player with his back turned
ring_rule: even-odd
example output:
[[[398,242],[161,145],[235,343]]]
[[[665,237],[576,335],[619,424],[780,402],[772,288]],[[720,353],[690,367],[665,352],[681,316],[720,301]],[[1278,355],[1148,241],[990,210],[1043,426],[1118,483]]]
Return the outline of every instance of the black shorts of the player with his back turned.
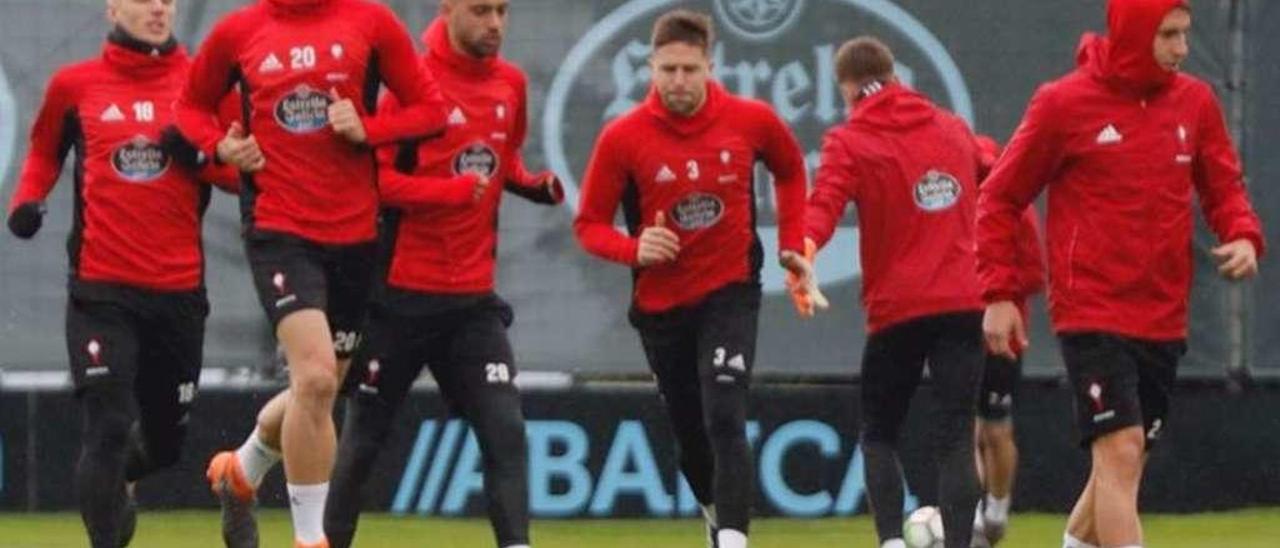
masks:
[[[925,364],[937,411],[972,417],[983,355],[982,312],[916,318],[868,337],[861,371],[863,435],[877,442],[899,439]]]

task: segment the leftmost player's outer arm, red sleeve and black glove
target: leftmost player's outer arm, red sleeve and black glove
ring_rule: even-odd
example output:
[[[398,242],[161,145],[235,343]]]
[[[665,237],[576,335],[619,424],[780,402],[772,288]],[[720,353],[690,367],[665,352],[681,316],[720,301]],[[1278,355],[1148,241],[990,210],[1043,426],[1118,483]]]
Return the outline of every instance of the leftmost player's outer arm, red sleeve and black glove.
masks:
[[[31,238],[40,230],[45,215],[45,197],[58,183],[63,163],[72,149],[72,124],[76,124],[76,97],[70,77],[54,74],[45,90],[45,100],[31,127],[31,147],[23,163],[18,186],[9,201],[9,232]]]

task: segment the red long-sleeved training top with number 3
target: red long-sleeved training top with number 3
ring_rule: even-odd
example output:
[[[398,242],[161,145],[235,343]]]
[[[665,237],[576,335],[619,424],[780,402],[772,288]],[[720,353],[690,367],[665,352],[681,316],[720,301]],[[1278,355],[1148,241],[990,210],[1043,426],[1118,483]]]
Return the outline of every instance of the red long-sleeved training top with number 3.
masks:
[[[591,255],[636,269],[634,303],[643,312],[694,305],[727,284],[758,280],[764,264],[755,233],[758,160],[774,177],[778,248],[801,252],[804,155],[773,109],[708,82],[703,108],[680,117],[650,91],[600,132],[573,232]],[[613,227],[620,202],[630,236]],[[637,268],[640,233],[658,211],[680,237],[680,256]]]

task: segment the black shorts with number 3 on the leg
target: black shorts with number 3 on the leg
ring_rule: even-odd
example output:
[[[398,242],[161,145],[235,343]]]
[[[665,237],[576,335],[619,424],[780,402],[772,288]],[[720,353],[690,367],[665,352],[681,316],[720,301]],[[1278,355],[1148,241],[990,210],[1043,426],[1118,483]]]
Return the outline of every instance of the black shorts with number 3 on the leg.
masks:
[[[640,332],[649,369],[663,394],[692,380],[739,387],[745,394],[755,364],[759,316],[760,286],[735,283],[692,306],[655,314],[632,307],[630,320]]]

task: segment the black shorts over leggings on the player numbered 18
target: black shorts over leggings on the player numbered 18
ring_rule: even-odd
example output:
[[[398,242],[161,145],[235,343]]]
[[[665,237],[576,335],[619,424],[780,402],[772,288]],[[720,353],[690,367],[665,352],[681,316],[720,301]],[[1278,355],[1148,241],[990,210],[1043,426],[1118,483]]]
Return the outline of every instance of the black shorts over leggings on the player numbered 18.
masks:
[[[148,420],[183,420],[200,382],[207,316],[204,289],[166,293],[78,284],[67,302],[76,393],[123,385]]]

